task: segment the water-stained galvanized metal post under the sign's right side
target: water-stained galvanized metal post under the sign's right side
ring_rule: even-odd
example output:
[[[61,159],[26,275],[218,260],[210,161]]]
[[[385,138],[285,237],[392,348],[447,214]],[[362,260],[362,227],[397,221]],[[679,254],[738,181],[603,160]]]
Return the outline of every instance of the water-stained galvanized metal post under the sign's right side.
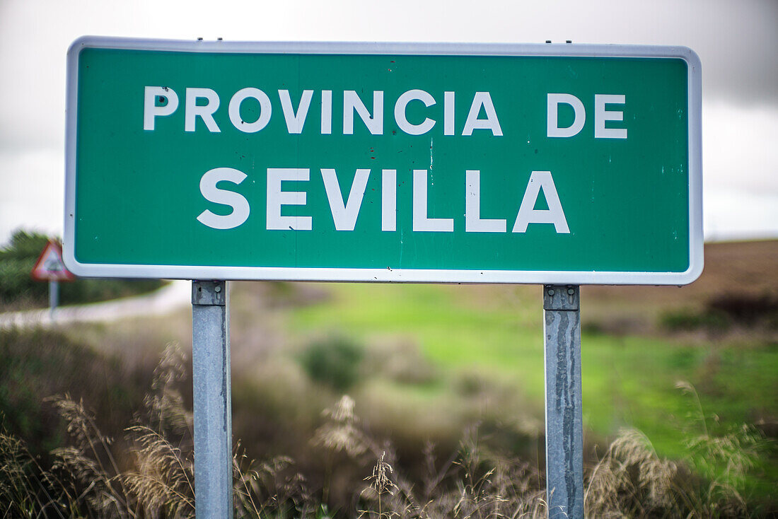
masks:
[[[580,289],[543,287],[548,517],[584,517]]]

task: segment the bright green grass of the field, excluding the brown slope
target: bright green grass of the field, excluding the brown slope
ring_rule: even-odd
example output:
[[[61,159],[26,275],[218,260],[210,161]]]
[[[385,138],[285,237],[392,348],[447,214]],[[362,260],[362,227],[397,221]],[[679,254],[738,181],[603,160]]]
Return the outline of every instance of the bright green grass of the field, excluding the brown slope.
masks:
[[[488,373],[483,376],[534,402],[530,409],[542,418],[540,295],[531,299],[536,289],[494,289],[489,304],[478,297],[482,287],[337,285],[332,290],[330,302],[296,310],[296,327],[348,330],[366,342],[380,335],[407,335],[447,376]],[[727,437],[757,416],[778,412],[778,350],[769,342],[700,347],[672,338],[601,333],[584,334],[582,342],[584,422],[590,441],[635,427],[652,439],[657,453],[682,459],[689,453],[685,438],[708,433],[705,423],[712,423],[711,435]],[[697,387],[702,407],[690,409],[690,397],[678,389],[679,381]],[[447,398],[450,386],[423,384],[420,390],[433,407]],[[703,409],[714,410],[715,419]],[[745,482],[749,492],[769,495],[778,476],[776,455],[775,448],[759,454]],[[724,458],[711,463],[726,469]]]

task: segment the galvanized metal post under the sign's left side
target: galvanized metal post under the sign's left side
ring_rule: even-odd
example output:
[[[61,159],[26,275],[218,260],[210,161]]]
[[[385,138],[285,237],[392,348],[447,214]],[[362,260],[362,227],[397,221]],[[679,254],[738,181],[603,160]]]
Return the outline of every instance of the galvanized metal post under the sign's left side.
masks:
[[[233,517],[230,306],[224,281],[192,281],[195,517]]]

